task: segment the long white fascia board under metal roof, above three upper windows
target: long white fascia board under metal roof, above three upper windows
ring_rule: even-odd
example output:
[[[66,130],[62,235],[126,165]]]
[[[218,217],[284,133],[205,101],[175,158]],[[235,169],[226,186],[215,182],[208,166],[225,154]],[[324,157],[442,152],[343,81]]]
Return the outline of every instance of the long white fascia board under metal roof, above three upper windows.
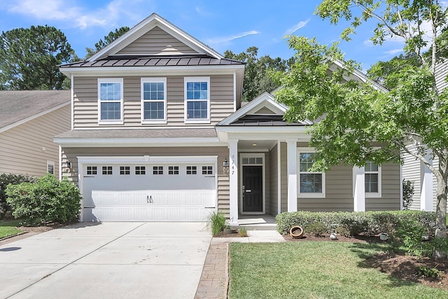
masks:
[[[244,71],[244,64],[200,65],[182,67],[61,67],[59,71],[66,76],[148,76],[148,72],[165,75],[190,74],[234,74]]]

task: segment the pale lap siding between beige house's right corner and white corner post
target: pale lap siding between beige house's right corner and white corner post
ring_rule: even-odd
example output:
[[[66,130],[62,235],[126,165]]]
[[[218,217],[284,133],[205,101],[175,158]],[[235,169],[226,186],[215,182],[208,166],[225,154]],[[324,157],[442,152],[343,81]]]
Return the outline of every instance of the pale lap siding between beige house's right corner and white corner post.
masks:
[[[403,154],[404,163],[402,165],[402,177],[406,181],[414,182],[414,195],[412,195],[412,205],[409,209],[420,210],[421,193],[421,162],[407,153]]]

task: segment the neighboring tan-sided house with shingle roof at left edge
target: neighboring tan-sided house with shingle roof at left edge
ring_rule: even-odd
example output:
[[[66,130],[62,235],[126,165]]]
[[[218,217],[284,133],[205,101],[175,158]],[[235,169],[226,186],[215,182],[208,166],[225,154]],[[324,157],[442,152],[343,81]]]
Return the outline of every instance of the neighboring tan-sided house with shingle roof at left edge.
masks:
[[[69,90],[0,91],[0,174],[59,176],[56,134],[70,129]]]

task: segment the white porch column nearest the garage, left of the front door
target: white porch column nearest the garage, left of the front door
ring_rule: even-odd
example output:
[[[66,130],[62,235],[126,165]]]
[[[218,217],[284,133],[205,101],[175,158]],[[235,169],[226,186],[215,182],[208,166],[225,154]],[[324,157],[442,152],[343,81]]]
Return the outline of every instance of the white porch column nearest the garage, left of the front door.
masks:
[[[229,140],[230,225],[238,225],[238,140]]]

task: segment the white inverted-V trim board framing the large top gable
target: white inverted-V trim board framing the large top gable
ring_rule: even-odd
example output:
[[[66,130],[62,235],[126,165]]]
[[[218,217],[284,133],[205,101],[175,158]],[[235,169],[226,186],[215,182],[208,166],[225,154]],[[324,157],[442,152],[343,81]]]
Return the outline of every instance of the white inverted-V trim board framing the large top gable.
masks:
[[[184,32],[179,27],[176,27],[176,25],[160,17],[160,15],[158,15],[157,13],[152,13],[150,16],[148,16],[148,18],[141,20],[141,22],[132,27],[128,32],[123,34],[123,36],[120,36],[118,39],[116,39],[116,41],[113,41],[102,50],[99,50],[98,53],[90,57],[88,61],[94,61],[103,57],[104,55],[109,55],[110,53],[113,53],[114,48],[117,48],[115,52],[122,50],[123,48],[125,48],[125,46],[128,46],[130,43],[138,39],[141,35],[149,32],[156,26],[161,27],[180,41],[183,41],[187,46],[190,46],[190,48],[197,50],[198,53],[207,53],[216,58],[223,58],[223,55],[219,54],[214,49],[195,39],[193,36],[190,36],[190,34]]]

